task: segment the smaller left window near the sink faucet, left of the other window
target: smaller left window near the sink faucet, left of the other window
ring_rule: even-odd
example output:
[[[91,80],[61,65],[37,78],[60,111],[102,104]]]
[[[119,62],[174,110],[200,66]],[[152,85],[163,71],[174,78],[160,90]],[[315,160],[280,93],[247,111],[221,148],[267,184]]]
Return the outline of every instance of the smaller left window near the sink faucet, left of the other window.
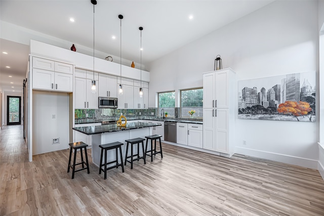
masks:
[[[169,116],[175,115],[176,94],[175,92],[158,93],[158,114],[163,116],[163,111],[168,112]]]

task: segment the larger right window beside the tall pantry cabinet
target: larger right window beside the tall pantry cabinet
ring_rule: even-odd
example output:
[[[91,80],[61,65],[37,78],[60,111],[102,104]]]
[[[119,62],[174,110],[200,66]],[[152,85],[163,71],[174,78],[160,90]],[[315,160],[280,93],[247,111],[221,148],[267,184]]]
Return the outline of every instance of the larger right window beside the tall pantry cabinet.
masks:
[[[195,118],[203,117],[203,89],[181,90],[181,117],[190,117],[188,113],[194,110]]]

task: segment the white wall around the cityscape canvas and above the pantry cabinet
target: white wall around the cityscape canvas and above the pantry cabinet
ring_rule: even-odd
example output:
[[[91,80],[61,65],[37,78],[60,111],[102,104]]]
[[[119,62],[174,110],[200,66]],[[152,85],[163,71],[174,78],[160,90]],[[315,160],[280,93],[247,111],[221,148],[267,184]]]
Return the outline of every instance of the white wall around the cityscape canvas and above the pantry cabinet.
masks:
[[[202,86],[218,54],[236,80],[316,71],[317,25],[317,1],[277,1],[234,21],[152,62],[149,106],[155,92]],[[237,153],[317,168],[318,121],[235,121]]]

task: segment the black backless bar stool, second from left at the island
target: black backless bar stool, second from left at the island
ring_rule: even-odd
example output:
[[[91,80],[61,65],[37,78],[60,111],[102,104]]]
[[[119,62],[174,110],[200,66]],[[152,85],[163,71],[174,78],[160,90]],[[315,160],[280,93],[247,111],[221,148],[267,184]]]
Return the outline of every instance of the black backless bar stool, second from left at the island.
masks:
[[[107,170],[112,169],[112,168],[118,168],[118,166],[121,166],[121,170],[124,172],[124,164],[123,164],[123,154],[121,154],[121,146],[124,145],[124,143],[120,142],[114,142],[114,143],[108,143],[104,145],[99,145],[101,148],[101,154],[100,154],[100,167],[99,167],[99,175],[101,174],[101,171],[105,173],[105,179],[107,179]],[[119,154],[120,154],[120,163],[118,163],[118,148],[119,148]],[[116,149],[116,160],[110,161],[107,163],[107,151],[111,149]],[[105,162],[102,163],[102,156],[103,156],[103,151],[105,151]],[[116,165],[108,167],[107,165],[110,163],[116,162]],[[104,168],[101,168],[102,166],[105,166]]]

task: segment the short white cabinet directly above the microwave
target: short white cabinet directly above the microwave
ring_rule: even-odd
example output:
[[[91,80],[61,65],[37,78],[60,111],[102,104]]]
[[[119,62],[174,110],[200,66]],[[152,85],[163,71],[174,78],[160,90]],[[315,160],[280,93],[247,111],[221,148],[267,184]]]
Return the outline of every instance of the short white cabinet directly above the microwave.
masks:
[[[117,97],[117,77],[99,73],[99,97]]]

